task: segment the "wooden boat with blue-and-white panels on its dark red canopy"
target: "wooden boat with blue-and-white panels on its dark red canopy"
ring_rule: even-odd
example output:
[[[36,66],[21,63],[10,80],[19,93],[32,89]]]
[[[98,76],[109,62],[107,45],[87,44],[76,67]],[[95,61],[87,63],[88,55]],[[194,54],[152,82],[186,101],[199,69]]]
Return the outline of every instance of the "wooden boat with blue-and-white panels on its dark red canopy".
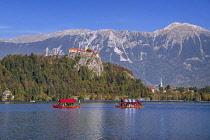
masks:
[[[135,99],[122,99],[121,103],[115,106],[118,108],[144,108],[144,106],[141,105],[140,100]]]

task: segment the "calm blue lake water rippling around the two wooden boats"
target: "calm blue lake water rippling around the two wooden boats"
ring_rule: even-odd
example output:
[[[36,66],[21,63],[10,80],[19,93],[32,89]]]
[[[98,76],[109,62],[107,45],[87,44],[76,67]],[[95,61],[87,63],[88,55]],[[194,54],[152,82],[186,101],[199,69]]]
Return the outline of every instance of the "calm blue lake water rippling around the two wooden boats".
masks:
[[[210,104],[143,102],[142,109],[116,103],[0,103],[0,139],[209,140]]]

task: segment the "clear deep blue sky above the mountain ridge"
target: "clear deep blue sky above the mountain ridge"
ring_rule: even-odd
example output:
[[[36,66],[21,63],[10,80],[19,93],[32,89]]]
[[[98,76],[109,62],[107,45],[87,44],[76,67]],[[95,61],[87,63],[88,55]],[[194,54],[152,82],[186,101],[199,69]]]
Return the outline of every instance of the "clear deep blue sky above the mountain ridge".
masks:
[[[1,0],[0,38],[67,29],[153,32],[173,22],[210,30],[210,0]]]

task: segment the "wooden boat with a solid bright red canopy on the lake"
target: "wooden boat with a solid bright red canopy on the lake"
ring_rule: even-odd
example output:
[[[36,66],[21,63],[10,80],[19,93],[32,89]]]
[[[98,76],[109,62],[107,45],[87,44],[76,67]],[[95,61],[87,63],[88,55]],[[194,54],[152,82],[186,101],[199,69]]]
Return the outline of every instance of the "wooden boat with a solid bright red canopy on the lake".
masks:
[[[53,108],[81,108],[82,106],[80,105],[80,101],[79,105],[75,105],[74,103],[76,102],[76,99],[60,99],[57,105],[52,106]]]

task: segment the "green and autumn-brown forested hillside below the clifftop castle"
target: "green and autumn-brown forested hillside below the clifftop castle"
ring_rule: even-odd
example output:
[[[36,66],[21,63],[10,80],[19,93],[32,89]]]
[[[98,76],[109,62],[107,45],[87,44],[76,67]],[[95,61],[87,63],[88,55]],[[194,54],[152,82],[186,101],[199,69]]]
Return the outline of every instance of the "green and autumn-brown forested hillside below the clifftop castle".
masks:
[[[80,99],[110,100],[116,97],[148,97],[151,92],[128,69],[103,63],[102,76],[86,66],[74,68],[78,59],[68,56],[8,55],[0,60],[0,95],[10,90],[17,101]]]

